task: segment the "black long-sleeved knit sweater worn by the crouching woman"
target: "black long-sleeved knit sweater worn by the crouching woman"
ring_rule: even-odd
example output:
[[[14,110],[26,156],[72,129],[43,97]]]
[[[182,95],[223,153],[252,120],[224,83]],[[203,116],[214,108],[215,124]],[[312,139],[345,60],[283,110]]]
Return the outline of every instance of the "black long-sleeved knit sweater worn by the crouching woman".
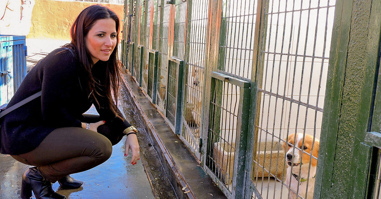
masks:
[[[62,52],[61,52],[62,51]],[[96,95],[100,107],[86,91],[86,79],[79,72],[80,64],[74,54],[59,48],[38,62],[25,76],[8,107],[32,94],[42,91],[41,97],[5,115],[0,128],[2,154],[23,154],[34,150],[56,128],[82,127],[82,114],[94,103],[102,120],[117,129],[116,134],[131,125],[109,108],[105,92],[106,62],[99,60],[91,69],[103,87]]]

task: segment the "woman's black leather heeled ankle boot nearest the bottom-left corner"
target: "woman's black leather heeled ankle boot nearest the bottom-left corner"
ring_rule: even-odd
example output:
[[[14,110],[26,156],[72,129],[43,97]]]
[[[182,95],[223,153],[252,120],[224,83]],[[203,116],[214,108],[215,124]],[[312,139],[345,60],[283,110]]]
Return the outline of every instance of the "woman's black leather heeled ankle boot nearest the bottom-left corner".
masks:
[[[65,196],[56,193],[51,188],[50,181],[44,180],[36,167],[29,168],[22,175],[21,194],[22,199],[29,199],[32,191],[36,199],[65,199]]]

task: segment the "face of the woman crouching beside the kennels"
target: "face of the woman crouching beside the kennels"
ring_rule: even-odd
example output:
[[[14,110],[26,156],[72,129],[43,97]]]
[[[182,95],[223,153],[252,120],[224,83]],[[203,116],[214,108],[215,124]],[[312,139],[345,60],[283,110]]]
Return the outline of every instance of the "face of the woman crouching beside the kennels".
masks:
[[[114,19],[99,19],[86,35],[86,48],[94,64],[98,60],[109,60],[116,44],[117,31]]]

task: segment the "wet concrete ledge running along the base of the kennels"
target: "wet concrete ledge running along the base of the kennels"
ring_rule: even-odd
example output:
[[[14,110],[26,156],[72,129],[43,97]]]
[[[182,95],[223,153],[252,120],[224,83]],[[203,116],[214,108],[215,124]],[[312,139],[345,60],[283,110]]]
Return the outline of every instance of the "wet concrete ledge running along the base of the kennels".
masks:
[[[147,127],[166,174],[180,199],[226,198],[203,171],[197,159],[165,123],[133,77],[125,75],[122,87],[134,103]],[[184,188],[184,190],[183,190]]]

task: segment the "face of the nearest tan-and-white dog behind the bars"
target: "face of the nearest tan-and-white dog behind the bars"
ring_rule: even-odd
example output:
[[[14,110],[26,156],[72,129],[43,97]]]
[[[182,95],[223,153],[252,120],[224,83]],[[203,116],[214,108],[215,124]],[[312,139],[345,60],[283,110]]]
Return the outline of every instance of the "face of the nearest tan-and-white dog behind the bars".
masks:
[[[297,133],[296,136],[295,134],[291,134],[288,136],[287,142],[283,143],[283,149],[285,151],[286,163],[288,164],[288,166],[295,167],[302,166],[303,164],[307,165],[310,162],[311,155],[317,158],[317,155],[319,153],[319,140],[314,140],[314,137],[309,134],[305,134],[304,137],[301,133]],[[317,160],[315,158],[312,158],[311,166],[316,167],[316,164]]]

